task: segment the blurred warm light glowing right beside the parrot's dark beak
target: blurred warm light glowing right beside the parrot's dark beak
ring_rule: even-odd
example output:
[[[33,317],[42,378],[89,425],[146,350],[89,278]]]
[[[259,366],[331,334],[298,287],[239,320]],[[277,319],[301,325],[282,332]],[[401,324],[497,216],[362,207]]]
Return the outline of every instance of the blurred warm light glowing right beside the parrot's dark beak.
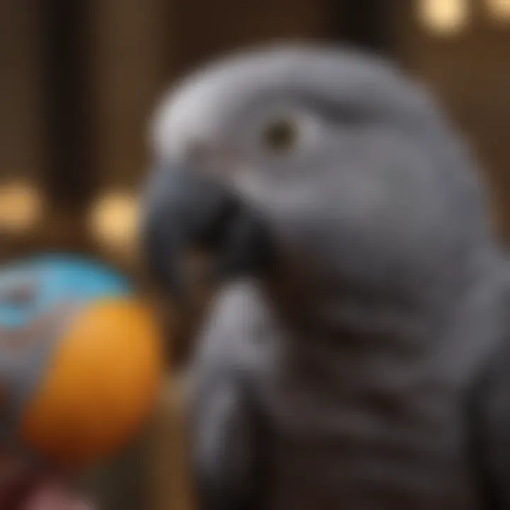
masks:
[[[106,193],[93,204],[90,227],[106,249],[134,249],[137,239],[138,199],[124,191]]]

